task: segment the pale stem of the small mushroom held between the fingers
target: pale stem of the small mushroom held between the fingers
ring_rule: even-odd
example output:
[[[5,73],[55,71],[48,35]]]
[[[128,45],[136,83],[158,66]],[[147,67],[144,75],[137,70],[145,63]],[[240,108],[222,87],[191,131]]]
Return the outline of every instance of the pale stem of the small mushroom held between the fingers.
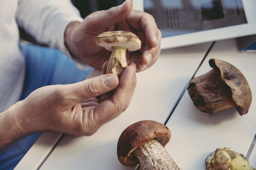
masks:
[[[119,76],[125,67],[127,67],[126,48],[114,46],[108,61],[107,74],[113,73]]]

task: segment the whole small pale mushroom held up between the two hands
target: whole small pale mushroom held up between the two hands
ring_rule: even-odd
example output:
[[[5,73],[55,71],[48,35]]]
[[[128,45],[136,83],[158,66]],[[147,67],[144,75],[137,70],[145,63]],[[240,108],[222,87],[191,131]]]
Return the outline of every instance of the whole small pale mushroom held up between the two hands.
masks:
[[[127,67],[126,49],[129,52],[134,52],[141,48],[141,41],[138,36],[129,31],[103,32],[97,36],[96,43],[98,46],[105,47],[112,52],[107,73],[114,73],[117,76]]]

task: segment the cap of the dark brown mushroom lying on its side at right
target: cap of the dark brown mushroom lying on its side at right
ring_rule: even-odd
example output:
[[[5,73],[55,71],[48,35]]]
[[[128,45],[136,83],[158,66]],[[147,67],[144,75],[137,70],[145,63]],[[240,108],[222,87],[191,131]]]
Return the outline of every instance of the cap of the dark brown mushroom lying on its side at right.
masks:
[[[215,58],[210,59],[209,64],[230,89],[239,115],[246,114],[252,103],[252,92],[243,73],[234,65]]]

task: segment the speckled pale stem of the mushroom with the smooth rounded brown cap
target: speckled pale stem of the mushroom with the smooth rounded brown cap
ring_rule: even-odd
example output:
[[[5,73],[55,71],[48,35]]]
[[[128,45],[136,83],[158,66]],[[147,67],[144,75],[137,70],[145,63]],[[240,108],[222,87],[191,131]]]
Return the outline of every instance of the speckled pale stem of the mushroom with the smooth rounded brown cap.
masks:
[[[164,147],[156,140],[144,143],[134,150],[140,162],[141,170],[146,169],[180,169],[167,153]]]

